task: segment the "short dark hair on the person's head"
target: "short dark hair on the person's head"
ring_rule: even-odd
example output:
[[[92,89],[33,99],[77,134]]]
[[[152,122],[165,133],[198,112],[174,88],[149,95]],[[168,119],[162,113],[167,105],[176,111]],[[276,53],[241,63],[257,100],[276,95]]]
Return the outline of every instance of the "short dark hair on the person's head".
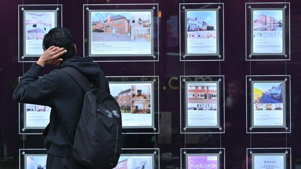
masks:
[[[76,54],[74,38],[71,32],[64,27],[52,28],[45,34],[43,39],[43,50],[47,50],[50,46],[64,47],[67,50],[67,52],[60,57],[63,61],[72,58]]]

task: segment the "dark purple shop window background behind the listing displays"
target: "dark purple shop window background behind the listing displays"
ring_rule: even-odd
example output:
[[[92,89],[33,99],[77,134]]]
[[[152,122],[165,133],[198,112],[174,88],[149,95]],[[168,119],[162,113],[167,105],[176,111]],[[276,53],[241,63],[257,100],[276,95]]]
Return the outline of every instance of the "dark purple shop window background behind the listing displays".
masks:
[[[184,147],[184,135],[179,128],[179,76],[184,74],[183,62],[179,61],[179,42],[171,37],[178,35],[179,3],[183,1],[162,0],[88,0],[89,4],[101,3],[159,3],[159,62],[155,62],[155,74],[160,77],[160,134],[127,135],[125,148],[160,148],[160,167],[179,168],[180,148]],[[216,1],[193,0],[185,3]],[[218,1],[217,1],[218,2]],[[226,169],[245,168],[246,148],[250,147],[250,135],[245,133],[245,75],[249,75],[249,62],[245,61],[245,2],[225,0],[225,61],[221,62],[221,74],[225,75],[226,99],[232,103],[226,107],[225,134],[186,135],[186,147],[226,148]],[[301,166],[300,148],[300,52],[301,52],[301,2],[291,0],[291,61],[287,61],[287,74],[291,75],[292,133],[252,134],[252,147],[292,148],[292,168]],[[24,4],[57,4],[56,0],[24,0]],[[77,51],[83,53],[83,4],[87,1],[59,0],[63,5],[63,26],[70,29],[76,39]],[[12,93],[18,77],[27,71],[31,63],[18,62],[18,5],[22,1],[0,0],[0,168],[18,168],[19,148],[44,148],[41,135],[19,135],[18,103]],[[167,24],[176,17],[177,29]],[[107,76],[153,75],[153,62],[102,62],[99,63]],[[253,61],[252,75],[285,74],[285,61]],[[47,73],[55,67],[47,67]],[[218,75],[219,62],[186,62],[186,75]],[[171,83],[169,84],[168,82]],[[227,104],[226,104],[227,105]],[[70,105],[72,106],[72,105]],[[24,141],[23,141],[24,140]],[[3,152],[5,143],[5,153]],[[156,143],[156,145],[155,145]],[[298,167],[299,165],[299,167]]]

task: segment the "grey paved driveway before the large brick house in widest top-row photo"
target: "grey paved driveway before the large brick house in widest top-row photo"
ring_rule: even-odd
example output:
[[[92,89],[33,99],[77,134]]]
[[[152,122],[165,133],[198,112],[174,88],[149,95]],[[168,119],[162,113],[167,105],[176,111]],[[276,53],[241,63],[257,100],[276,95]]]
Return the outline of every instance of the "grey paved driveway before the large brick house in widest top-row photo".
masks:
[[[102,32],[92,32],[92,41],[131,41],[131,36],[116,35],[116,34],[105,34]]]

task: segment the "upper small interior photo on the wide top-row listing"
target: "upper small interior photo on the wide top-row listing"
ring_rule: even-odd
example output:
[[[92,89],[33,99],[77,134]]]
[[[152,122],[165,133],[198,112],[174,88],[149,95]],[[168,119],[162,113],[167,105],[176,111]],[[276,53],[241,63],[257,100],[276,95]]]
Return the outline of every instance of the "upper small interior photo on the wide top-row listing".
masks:
[[[150,12],[132,12],[132,27],[151,27]]]

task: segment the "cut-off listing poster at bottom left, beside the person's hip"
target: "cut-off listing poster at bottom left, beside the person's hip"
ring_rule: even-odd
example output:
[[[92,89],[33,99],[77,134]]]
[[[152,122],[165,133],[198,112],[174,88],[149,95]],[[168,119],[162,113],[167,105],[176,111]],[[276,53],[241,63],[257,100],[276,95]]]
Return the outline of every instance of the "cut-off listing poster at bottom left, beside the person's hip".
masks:
[[[47,155],[35,156],[29,155],[26,157],[25,169],[43,169],[46,168]]]

